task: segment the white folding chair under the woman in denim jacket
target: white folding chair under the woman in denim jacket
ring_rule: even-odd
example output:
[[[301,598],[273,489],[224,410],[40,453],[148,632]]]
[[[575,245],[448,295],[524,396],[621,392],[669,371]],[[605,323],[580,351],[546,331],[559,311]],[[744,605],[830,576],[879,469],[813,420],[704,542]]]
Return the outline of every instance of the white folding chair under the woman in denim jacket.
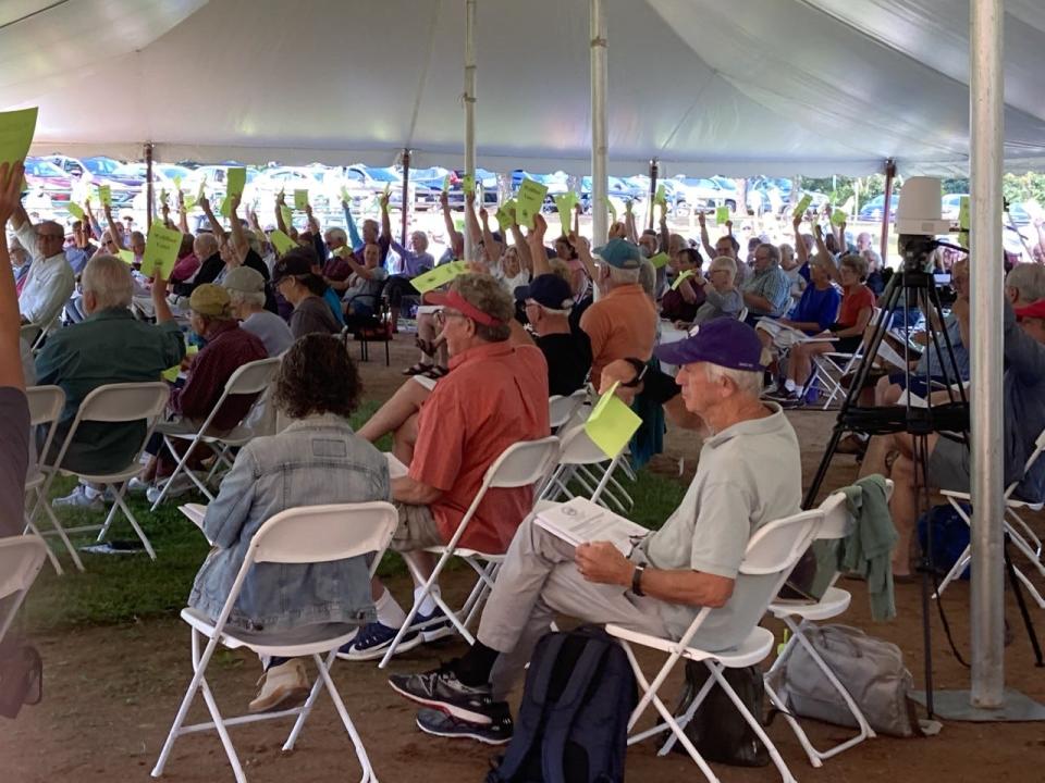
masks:
[[[239,597],[247,573],[255,563],[321,563],[362,557],[372,552],[373,559],[370,566],[370,576],[372,577],[381,562],[384,550],[389,546],[389,542],[392,540],[392,534],[395,533],[397,524],[398,514],[392,504],[364,502],[287,509],[261,525],[250,540],[250,546],[243,559],[243,566],[236,574],[236,580],[232,584],[232,589],[229,592],[229,597],[225,599],[225,605],[222,607],[218,619],[209,618],[204,612],[192,608],[182,610],[182,619],[192,627],[194,674],[182,699],[181,707],[179,707],[177,714],[174,717],[171,731],[167,735],[167,742],[163,743],[163,748],[160,750],[160,757],[152,769],[153,778],[163,774],[163,767],[167,765],[167,759],[177,737],[193,732],[214,730],[225,748],[225,755],[229,757],[229,763],[232,766],[236,781],[245,783],[246,775],[243,773],[239,758],[232,745],[232,739],[229,737],[229,726],[297,716],[294,728],[283,745],[284,750],[293,750],[305,721],[316,705],[319,692],[325,687],[342,723],[345,725],[345,731],[352,738],[356,758],[362,768],[361,783],[368,781],[377,783],[378,776],[370,766],[370,759],[362,745],[362,739],[359,738],[359,734],[348,717],[348,710],[345,709],[345,704],[330,676],[330,667],[336,660],[337,648],[352,639],[356,633],[356,626],[332,623],[308,625],[300,631],[281,634],[265,634],[230,627],[226,623],[229,614]],[[201,639],[208,639],[202,655],[200,655]],[[319,670],[319,676],[317,676],[305,704],[299,707],[278,712],[223,718],[218,710],[218,704],[214,701],[214,696],[205,676],[207,666],[210,663],[211,656],[213,656],[219,643],[231,649],[246,647],[259,656],[282,658],[311,656]],[[197,691],[202,693],[204,701],[207,704],[212,721],[183,725]]]

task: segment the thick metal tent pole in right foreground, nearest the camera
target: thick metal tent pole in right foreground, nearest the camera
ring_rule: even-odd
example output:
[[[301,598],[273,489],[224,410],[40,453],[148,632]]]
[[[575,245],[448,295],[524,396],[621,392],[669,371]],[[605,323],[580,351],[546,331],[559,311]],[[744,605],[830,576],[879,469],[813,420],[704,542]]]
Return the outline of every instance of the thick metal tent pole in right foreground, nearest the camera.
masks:
[[[1003,2],[970,5],[969,128],[971,141],[972,587],[973,707],[999,708],[1005,689],[1005,518],[1003,494],[1001,247]]]

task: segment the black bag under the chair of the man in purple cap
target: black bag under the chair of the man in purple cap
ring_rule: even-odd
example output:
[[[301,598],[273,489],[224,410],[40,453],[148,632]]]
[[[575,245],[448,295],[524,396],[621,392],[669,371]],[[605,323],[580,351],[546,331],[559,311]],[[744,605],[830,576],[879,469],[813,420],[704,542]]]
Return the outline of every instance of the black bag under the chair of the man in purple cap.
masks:
[[[765,698],[762,667],[725,669],[723,675],[730,687],[737,692],[745,707],[751,711],[755,720],[761,722]],[[685,714],[710,676],[711,672],[704,663],[686,661],[686,689],[683,692],[678,709],[675,710],[676,718]],[[737,706],[718,683],[711,686],[711,691],[693,713],[693,719],[683,728],[683,731],[708,761],[734,767],[765,767],[770,763],[770,754],[765,745],[748,725],[743,716],[737,710]],[[687,753],[679,742],[672,746],[672,750]]]

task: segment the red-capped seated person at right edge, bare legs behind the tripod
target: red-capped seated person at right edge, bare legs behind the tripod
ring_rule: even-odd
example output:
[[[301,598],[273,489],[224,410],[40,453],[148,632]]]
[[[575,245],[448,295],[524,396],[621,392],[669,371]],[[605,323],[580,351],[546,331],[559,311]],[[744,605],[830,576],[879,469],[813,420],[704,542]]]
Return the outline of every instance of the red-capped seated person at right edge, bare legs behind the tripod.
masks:
[[[1005,485],[1019,482],[1015,497],[1037,502],[1045,498],[1045,460],[1037,460],[1023,472],[1026,458],[1045,430],[1045,299],[1013,310],[1005,302],[1005,375],[1003,413],[1005,419]],[[932,434],[927,482],[933,489],[969,492],[969,447],[960,440]],[[898,456],[889,467],[890,455]],[[907,433],[871,438],[860,475],[882,473],[894,481],[889,509],[900,534],[893,550],[893,574],[911,573],[913,536],[918,520],[920,482],[915,474],[914,439]]]

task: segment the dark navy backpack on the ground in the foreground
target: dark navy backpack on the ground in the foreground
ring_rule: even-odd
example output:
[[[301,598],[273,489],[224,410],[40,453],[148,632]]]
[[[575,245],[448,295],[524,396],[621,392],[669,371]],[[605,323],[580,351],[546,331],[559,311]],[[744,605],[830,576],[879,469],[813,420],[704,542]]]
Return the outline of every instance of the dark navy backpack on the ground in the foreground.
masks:
[[[627,655],[601,627],[541,637],[507,753],[487,783],[624,780],[636,684]]]

